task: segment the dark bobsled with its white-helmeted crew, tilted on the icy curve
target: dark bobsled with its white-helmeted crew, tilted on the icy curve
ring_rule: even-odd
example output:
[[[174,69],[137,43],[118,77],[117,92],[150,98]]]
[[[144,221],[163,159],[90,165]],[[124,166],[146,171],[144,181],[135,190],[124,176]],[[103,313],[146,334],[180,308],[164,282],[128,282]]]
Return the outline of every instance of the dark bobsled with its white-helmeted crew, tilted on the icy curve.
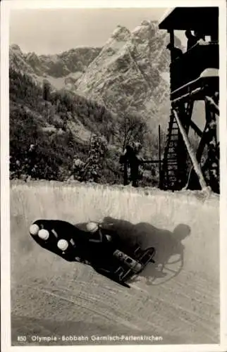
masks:
[[[100,275],[130,287],[128,280],[148,263],[154,263],[155,249],[126,246],[111,229],[87,222],[85,230],[63,220],[37,220],[30,226],[31,237],[42,248],[68,261],[90,265]]]

